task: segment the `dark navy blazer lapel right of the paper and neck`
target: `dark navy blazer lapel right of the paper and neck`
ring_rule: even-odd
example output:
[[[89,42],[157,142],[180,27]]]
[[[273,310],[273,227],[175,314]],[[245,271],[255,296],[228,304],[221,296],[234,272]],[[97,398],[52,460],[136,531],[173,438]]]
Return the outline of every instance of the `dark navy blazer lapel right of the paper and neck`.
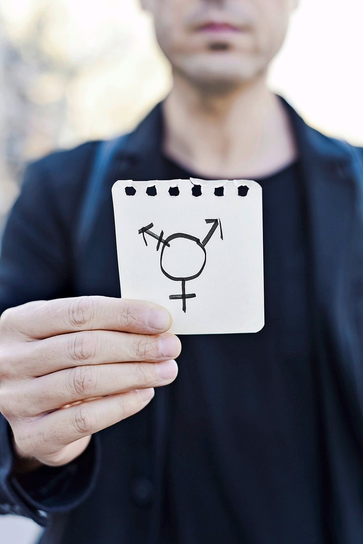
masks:
[[[331,314],[342,303],[349,262],[356,184],[344,144],[307,126],[285,102],[296,137],[310,267],[318,311]]]

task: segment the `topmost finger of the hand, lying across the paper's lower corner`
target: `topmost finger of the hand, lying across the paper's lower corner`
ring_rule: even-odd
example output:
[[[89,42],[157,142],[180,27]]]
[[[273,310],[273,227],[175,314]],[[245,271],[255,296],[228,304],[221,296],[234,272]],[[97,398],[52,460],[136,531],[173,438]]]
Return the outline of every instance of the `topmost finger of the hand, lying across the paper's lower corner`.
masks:
[[[33,339],[96,329],[155,335],[171,326],[170,313],[162,306],[107,296],[28,302],[7,312],[10,330]]]

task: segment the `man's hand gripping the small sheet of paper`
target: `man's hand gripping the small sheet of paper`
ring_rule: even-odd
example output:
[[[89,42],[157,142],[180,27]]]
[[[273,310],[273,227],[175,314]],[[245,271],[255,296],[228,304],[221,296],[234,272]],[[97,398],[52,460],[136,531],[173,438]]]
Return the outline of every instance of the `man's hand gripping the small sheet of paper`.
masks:
[[[65,465],[176,378],[167,310],[102,296],[29,302],[0,318],[0,411],[29,466]],[[32,461],[33,460],[33,461]]]

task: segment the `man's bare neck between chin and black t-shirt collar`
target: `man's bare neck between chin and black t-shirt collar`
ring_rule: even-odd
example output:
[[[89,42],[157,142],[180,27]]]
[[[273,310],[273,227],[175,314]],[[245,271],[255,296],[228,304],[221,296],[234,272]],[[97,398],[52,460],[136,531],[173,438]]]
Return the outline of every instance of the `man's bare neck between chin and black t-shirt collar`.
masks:
[[[163,114],[164,152],[204,177],[264,177],[296,158],[287,115],[264,76],[221,94],[175,75]]]

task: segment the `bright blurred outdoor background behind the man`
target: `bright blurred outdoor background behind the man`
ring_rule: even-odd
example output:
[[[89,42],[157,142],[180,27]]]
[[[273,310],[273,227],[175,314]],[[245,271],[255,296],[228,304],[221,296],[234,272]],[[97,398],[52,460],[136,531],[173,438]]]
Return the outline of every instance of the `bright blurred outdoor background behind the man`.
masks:
[[[362,21],[361,0],[300,0],[270,72],[311,125],[361,145]],[[170,85],[137,0],[0,0],[0,231],[29,160],[129,131]],[[38,533],[0,517],[1,544]]]

